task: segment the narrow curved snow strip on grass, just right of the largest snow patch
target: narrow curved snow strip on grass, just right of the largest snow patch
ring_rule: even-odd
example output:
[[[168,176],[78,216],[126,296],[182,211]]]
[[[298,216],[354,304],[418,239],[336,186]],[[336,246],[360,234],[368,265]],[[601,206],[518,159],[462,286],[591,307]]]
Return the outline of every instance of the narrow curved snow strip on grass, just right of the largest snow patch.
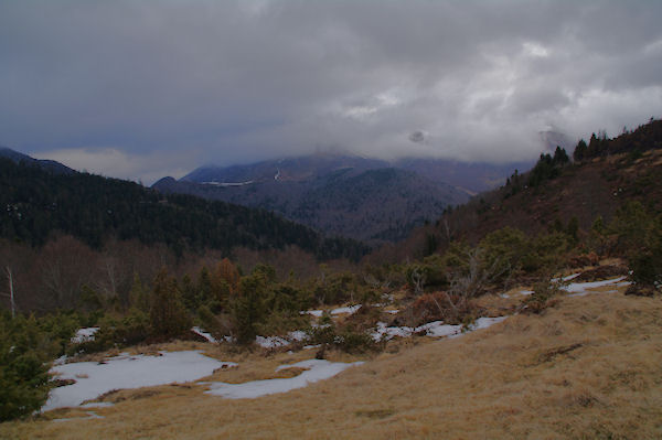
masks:
[[[331,363],[322,359],[302,361],[292,365],[280,365],[278,368],[276,368],[276,371],[292,367],[308,368],[296,377],[254,380],[244,384],[226,384],[223,382],[210,383],[210,389],[205,393],[214,396],[222,396],[228,399],[252,399],[270,394],[287,393],[292,389],[303,388],[308,384],[328,379],[345,368],[361,364],[363,364],[363,362],[345,364],[342,362]]]

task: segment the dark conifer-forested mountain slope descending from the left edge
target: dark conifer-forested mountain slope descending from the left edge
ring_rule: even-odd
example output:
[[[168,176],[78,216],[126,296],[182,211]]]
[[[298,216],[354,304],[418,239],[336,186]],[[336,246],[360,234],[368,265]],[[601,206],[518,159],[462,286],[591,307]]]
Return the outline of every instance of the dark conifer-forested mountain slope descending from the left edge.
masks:
[[[357,258],[362,244],[327,239],[264,210],[188,195],[164,196],[139,184],[87,173],[57,174],[0,159],[0,236],[42,245],[54,232],[93,247],[105,239],[164,243],[175,251],[297,245],[320,258]]]

